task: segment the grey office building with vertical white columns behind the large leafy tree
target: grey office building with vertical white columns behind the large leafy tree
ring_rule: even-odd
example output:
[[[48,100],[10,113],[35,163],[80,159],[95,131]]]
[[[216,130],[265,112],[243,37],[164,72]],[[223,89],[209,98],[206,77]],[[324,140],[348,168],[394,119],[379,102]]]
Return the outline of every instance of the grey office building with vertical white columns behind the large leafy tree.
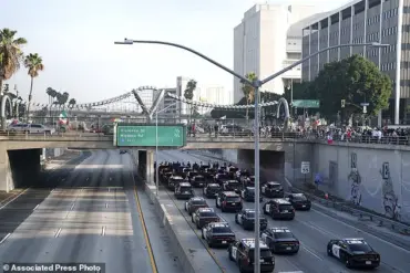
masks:
[[[382,119],[394,124],[408,123],[406,109],[410,105],[409,22],[409,0],[355,0],[309,22],[300,30],[304,35],[303,56],[338,44],[378,42],[390,46],[347,46],[320,53],[301,65],[303,81],[314,81],[328,62],[360,54],[378,65],[393,83],[390,108],[383,111]]]

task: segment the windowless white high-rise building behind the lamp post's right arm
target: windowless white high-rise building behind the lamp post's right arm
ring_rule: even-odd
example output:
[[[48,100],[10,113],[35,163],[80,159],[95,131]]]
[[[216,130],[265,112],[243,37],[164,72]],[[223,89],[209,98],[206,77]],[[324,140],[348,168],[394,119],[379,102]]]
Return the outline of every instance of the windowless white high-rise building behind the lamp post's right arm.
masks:
[[[235,72],[243,75],[255,72],[265,78],[300,60],[301,31],[297,22],[318,10],[301,4],[256,4],[246,11],[234,29]],[[262,91],[283,94],[290,80],[300,82],[300,66],[297,66],[265,84]],[[243,96],[242,84],[234,78],[234,103]]]

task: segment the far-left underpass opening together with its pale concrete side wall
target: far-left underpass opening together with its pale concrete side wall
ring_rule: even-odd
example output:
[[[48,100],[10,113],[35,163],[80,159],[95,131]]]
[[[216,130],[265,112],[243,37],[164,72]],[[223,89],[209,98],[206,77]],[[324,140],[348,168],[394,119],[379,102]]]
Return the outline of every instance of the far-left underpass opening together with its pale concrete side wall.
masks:
[[[42,149],[0,148],[0,191],[37,186],[41,174],[41,154]]]

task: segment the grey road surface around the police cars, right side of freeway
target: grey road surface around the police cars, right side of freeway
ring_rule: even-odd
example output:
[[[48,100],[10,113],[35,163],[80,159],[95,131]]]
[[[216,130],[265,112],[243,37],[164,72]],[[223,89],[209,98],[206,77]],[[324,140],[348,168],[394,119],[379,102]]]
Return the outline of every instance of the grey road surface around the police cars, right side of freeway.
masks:
[[[158,156],[158,161],[209,161],[209,158],[183,151],[162,151]],[[214,161],[214,160],[211,160]],[[196,189],[196,195],[202,196],[202,190]],[[172,193],[171,193],[172,196]],[[265,198],[264,202],[267,199]],[[180,210],[191,223],[191,218],[184,211],[184,201],[175,200]],[[215,208],[215,200],[207,199],[208,204]],[[253,208],[254,203],[244,202],[245,208]],[[217,213],[227,221],[237,238],[253,237],[253,232],[244,231],[242,227],[235,223],[234,213],[222,213],[216,209]],[[275,272],[304,272],[304,273],[345,273],[360,272],[357,270],[348,270],[342,263],[327,255],[326,245],[330,239],[339,238],[365,238],[380,254],[382,264],[377,272],[382,273],[406,273],[410,269],[410,252],[400,246],[397,246],[388,241],[369,234],[341,222],[338,219],[331,218],[320,211],[312,209],[311,211],[297,211],[294,221],[277,221],[268,218],[268,227],[288,227],[294,234],[299,239],[301,249],[296,255],[276,255]],[[201,233],[197,232],[198,240]],[[205,244],[204,244],[205,245]],[[224,249],[212,249],[215,260],[225,272],[238,272],[237,266],[228,260],[227,252]]]

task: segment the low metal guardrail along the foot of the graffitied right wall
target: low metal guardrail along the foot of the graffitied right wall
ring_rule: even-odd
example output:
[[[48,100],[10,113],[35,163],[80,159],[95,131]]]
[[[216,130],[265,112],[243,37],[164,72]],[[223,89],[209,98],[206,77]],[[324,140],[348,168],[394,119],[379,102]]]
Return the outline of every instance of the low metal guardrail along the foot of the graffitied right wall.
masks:
[[[300,190],[298,188],[291,187],[291,192],[295,193],[304,193],[306,195],[310,200],[314,200],[320,204],[325,204],[326,207],[331,207],[334,209],[340,210],[342,212],[348,212],[351,216],[359,217],[361,219],[368,219],[370,221],[377,222],[380,227],[386,227],[391,230],[394,230],[399,233],[410,235],[410,224],[398,222],[394,220],[390,220],[385,217],[377,216],[375,213],[370,213],[360,209],[353,209],[350,206],[346,204],[345,202],[338,202],[332,200],[327,200],[320,197],[317,197],[315,195],[311,195],[307,191]]]

